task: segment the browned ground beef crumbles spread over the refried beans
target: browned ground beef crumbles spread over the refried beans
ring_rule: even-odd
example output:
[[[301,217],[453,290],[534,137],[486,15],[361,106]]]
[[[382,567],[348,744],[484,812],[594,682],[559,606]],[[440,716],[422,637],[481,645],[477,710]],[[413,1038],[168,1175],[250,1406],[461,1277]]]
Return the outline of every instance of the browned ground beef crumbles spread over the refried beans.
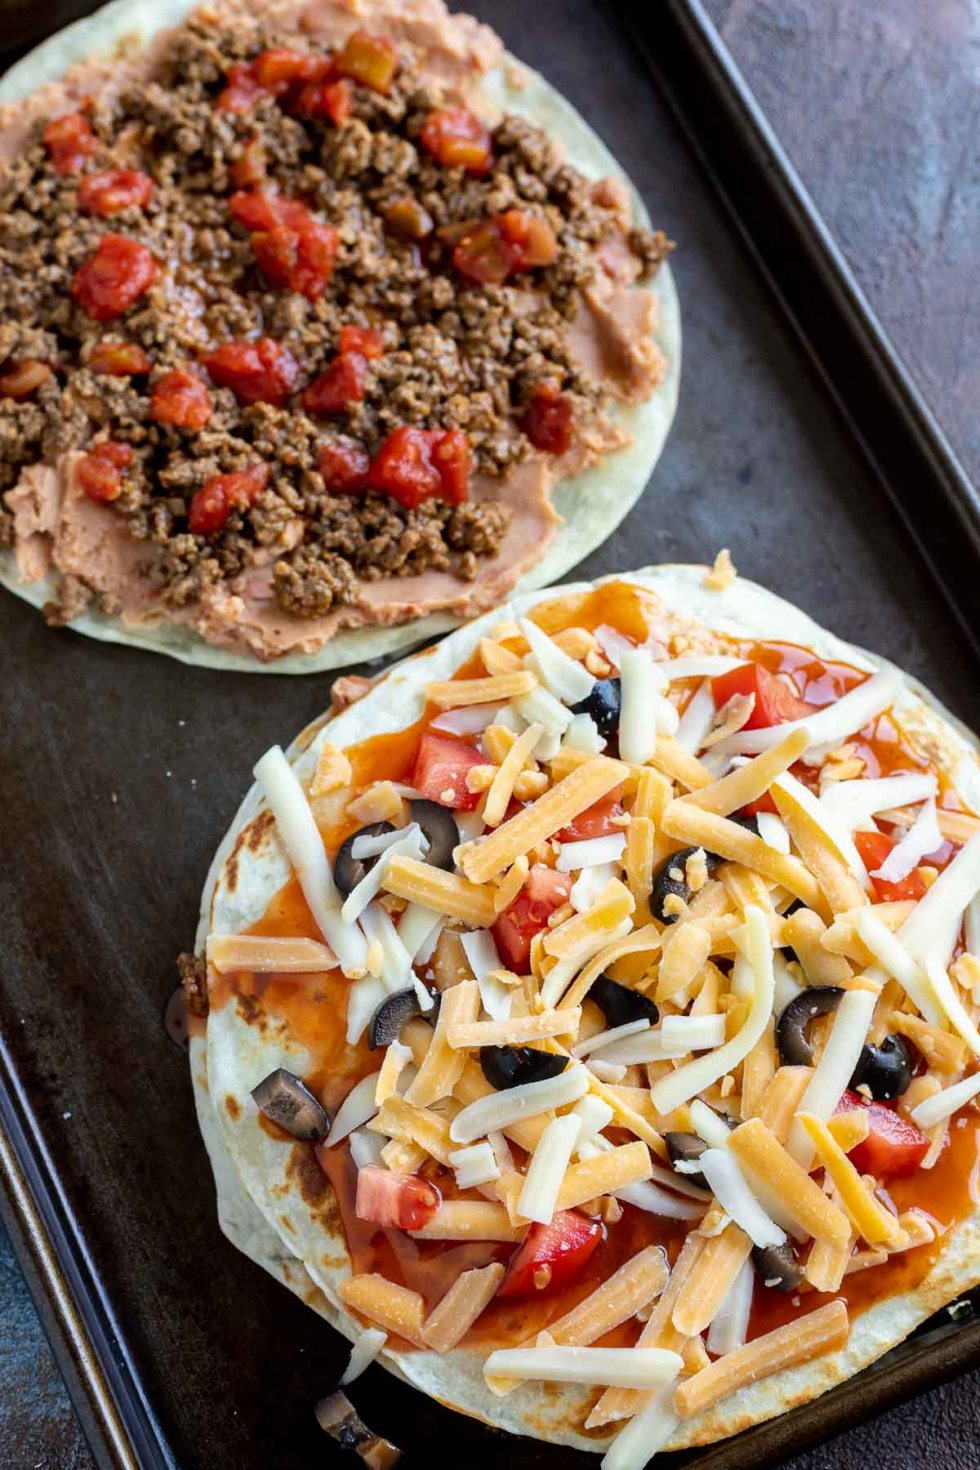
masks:
[[[25,401],[0,397],[0,492],[25,465],[122,442],[132,457],[113,509],[145,542],[143,575],[167,604],[185,606],[262,564],[272,567],[282,609],[316,617],[379,578],[428,569],[475,578],[510,519],[494,500],[406,509],[383,494],[328,494],[317,469],[325,438],[348,437],[375,454],[400,425],[461,429],[475,469],[500,476],[529,453],[517,420],[538,385],[570,400],[577,426],[601,420],[604,392],[572,360],[567,326],[597,269],[595,247],[621,234],[623,220],[614,197],[514,116],[492,134],[486,176],[436,163],[420,134],[438,98],[407,46],[391,91],[357,85],[342,126],[289,116],[267,94],[247,112],[216,109],[229,69],[276,44],[282,38],[262,24],[215,31],[191,19],[175,34],[157,81],[96,100],[90,125],[100,146],[84,173],[144,171],[154,182],[144,207],[131,204],[109,219],[79,212],[84,173],[51,166],[40,128],[35,144],[0,169],[0,373],[24,360],[54,368]],[[272,290],[248,231],[229,213],[234,166],[254,137],[262,188],[304,200],[339,237],[319,298]],[[386,223],[406,198],[435,229],[422,244]],[[508,209],[542,215],[558,240],[555,262],[535,272],[533,294],[526,278],[464,281],[453,270],[451,241],[438,234]],[[69,282],[107,231],[145,244],[169,270],[131,310],[98,325],[73,301]],[[670,250],[661,234],[642,229],[632,229],[627,243],[641,276]],[[385,351],[367,365],[363,401],[338,416],[304,412],[298,395],[285,407],[242,404],[220,387],[212,387],[212,416],[195,432],[150,415],[165,372],[197,365],[229,340],[281,341],[301,365],[301,391],[335,359],[344,325],[379,328]],[[148,372],[91,370],[93,348],[104,341],[140,347]],[[192,532],[195,491],[257,460],[270,467],[262,494],[216,534]],[[0,544],[10,539],[10,516],[0,509]],[[65,578],[46,616],[65,622],[90,597],[82,581]]]

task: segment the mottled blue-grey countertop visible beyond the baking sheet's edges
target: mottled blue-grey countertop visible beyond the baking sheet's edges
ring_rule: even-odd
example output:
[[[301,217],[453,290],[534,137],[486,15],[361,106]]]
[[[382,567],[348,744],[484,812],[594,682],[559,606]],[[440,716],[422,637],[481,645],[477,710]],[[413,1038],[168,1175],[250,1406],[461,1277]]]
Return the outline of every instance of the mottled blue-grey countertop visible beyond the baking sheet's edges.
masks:
[[[707,6],[955,448],[980,476],[980,13],[962,0],[890,0],[887,10],[861,0]],[[973,1373],[786,1470],[974,1470],[979,1417]],[[91,1467],[0,1230],[0,1470]]]

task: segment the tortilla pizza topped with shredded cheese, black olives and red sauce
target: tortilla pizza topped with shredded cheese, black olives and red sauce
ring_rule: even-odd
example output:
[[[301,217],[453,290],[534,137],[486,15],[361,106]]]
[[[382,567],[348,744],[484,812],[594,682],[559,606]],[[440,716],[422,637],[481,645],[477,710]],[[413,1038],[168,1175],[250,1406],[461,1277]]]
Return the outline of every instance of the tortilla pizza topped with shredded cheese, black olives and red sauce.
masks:
[[[256,776],[198,1113],[226,1232],[356,1364],[641,1470],[980,1280],[980,759],[907,675],[655,567],[514,600]]]

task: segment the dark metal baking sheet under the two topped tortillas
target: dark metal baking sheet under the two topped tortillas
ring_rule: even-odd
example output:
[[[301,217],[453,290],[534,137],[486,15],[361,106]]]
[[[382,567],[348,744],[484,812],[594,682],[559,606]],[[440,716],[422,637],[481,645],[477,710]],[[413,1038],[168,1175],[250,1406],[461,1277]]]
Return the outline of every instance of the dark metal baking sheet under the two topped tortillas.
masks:
[[[980,723],[976,670],[942,578],[620,21],[599,0],[470,9],[579,106],[680,244],[677,422],[642,501],[583,575],[702,560],[727,544],[742,572]],[[674,21],[686,10],[664,6]],[[76,0],[26,19],[19,7],[21,28],[7,35],[40,38],[31,26],[54,29],[76,12]],[[716,76],[716,91],[732,85]],[[332,1461],[310,1405],[345,1351],[220,1236],[185,1060],[160,1026],[173,954],[192,936],[203,875],[251,764],[319,713],[329,681],[185,669],[54,634],[10,597],[0,600],[0,638],[4,1219],[97,1458],[153,1470]],[[976,1322],[952,1332],[940,1323],[829,1398],[669,1463],[773,1464],[979,1357]],[[519,1467],[573,1458],[504,1441],[378,1369],[354,1396],[419,1463],[436,1444],[475,1466],[502,1454]]]

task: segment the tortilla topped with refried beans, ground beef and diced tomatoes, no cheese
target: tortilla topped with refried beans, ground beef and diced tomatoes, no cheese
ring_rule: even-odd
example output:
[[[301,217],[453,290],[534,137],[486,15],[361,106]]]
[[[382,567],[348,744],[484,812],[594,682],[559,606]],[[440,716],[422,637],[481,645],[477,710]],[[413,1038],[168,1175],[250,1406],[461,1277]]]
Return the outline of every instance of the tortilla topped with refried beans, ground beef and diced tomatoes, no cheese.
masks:
[[[670,244],[572,109],[439,0],[228,0],[144,40],[0,110],[15,589],[323,667],[608,535],[679,341],[642,284]]]

